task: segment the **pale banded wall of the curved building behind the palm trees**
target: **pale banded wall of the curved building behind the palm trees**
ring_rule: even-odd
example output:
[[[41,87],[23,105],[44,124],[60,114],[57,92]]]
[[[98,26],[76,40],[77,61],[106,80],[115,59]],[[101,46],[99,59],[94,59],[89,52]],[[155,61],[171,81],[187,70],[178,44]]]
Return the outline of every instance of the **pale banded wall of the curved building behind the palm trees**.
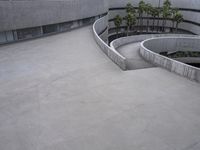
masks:
[[[138,6],[140,0],[109,0],[109,8],[119,8],[125,7],[128,2],[131,2],[135,7]],[[147,3],[151,3],[153,6],[158,6],[159,0],[144,0]],[[164,0],[160,0],[161,6]],[[195,34],[200,34],[200,0],[170,0],[173,7],[185,8],[186,10],[181,10],[184,19],[188,22],[180,24],[180,28],[190,31]],[[123,14],[121,10],[110,11],[110,18],[116,14]],[[110,28],[114,27],[113,23],[109,23]],[[170,22],[168,23],[171,24]]]

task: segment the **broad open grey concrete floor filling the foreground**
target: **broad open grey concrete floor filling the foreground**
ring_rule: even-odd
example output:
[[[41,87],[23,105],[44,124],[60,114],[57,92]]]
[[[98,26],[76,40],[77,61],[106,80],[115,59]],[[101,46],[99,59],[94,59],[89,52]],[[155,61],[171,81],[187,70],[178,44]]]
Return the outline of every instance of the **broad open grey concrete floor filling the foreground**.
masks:
[[[0,47],[0,150],[199,150],[200,84],[121,71],[92,28]]]

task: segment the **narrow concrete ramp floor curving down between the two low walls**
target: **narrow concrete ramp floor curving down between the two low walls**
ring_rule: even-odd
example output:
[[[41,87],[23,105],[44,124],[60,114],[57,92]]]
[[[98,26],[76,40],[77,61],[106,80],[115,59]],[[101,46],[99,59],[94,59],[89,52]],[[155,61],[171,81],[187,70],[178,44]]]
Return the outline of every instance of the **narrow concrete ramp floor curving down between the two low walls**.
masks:
[[[139,49],[140,42],[126,44],[117,49],[118,52],[126,58],[127,69],[136,70],[155,67],[154,65],[142,59],[142,57],[139,55]]]

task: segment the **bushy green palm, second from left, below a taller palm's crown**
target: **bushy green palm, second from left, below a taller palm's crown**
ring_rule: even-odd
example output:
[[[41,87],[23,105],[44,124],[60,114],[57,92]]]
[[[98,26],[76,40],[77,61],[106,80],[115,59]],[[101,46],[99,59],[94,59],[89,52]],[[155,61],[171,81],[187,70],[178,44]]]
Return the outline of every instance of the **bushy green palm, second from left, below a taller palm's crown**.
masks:
[[[128,33],[129,33],[131,27],[133,25],[135,25],[135,23],[136,23],[136,16],[135,16],[135,14],[129,12],[124,17],[124,20],[126,21],[126,25],[127,25],[127,36],[128,36]]]

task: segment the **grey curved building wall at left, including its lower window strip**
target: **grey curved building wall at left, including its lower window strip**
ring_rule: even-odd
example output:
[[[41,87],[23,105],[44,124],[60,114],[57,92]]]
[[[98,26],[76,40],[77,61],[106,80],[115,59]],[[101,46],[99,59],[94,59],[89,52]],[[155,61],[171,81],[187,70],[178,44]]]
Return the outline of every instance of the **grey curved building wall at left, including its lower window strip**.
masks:
[[[107,11],[106,0],[0,0],[0,44],[91,24]]]

